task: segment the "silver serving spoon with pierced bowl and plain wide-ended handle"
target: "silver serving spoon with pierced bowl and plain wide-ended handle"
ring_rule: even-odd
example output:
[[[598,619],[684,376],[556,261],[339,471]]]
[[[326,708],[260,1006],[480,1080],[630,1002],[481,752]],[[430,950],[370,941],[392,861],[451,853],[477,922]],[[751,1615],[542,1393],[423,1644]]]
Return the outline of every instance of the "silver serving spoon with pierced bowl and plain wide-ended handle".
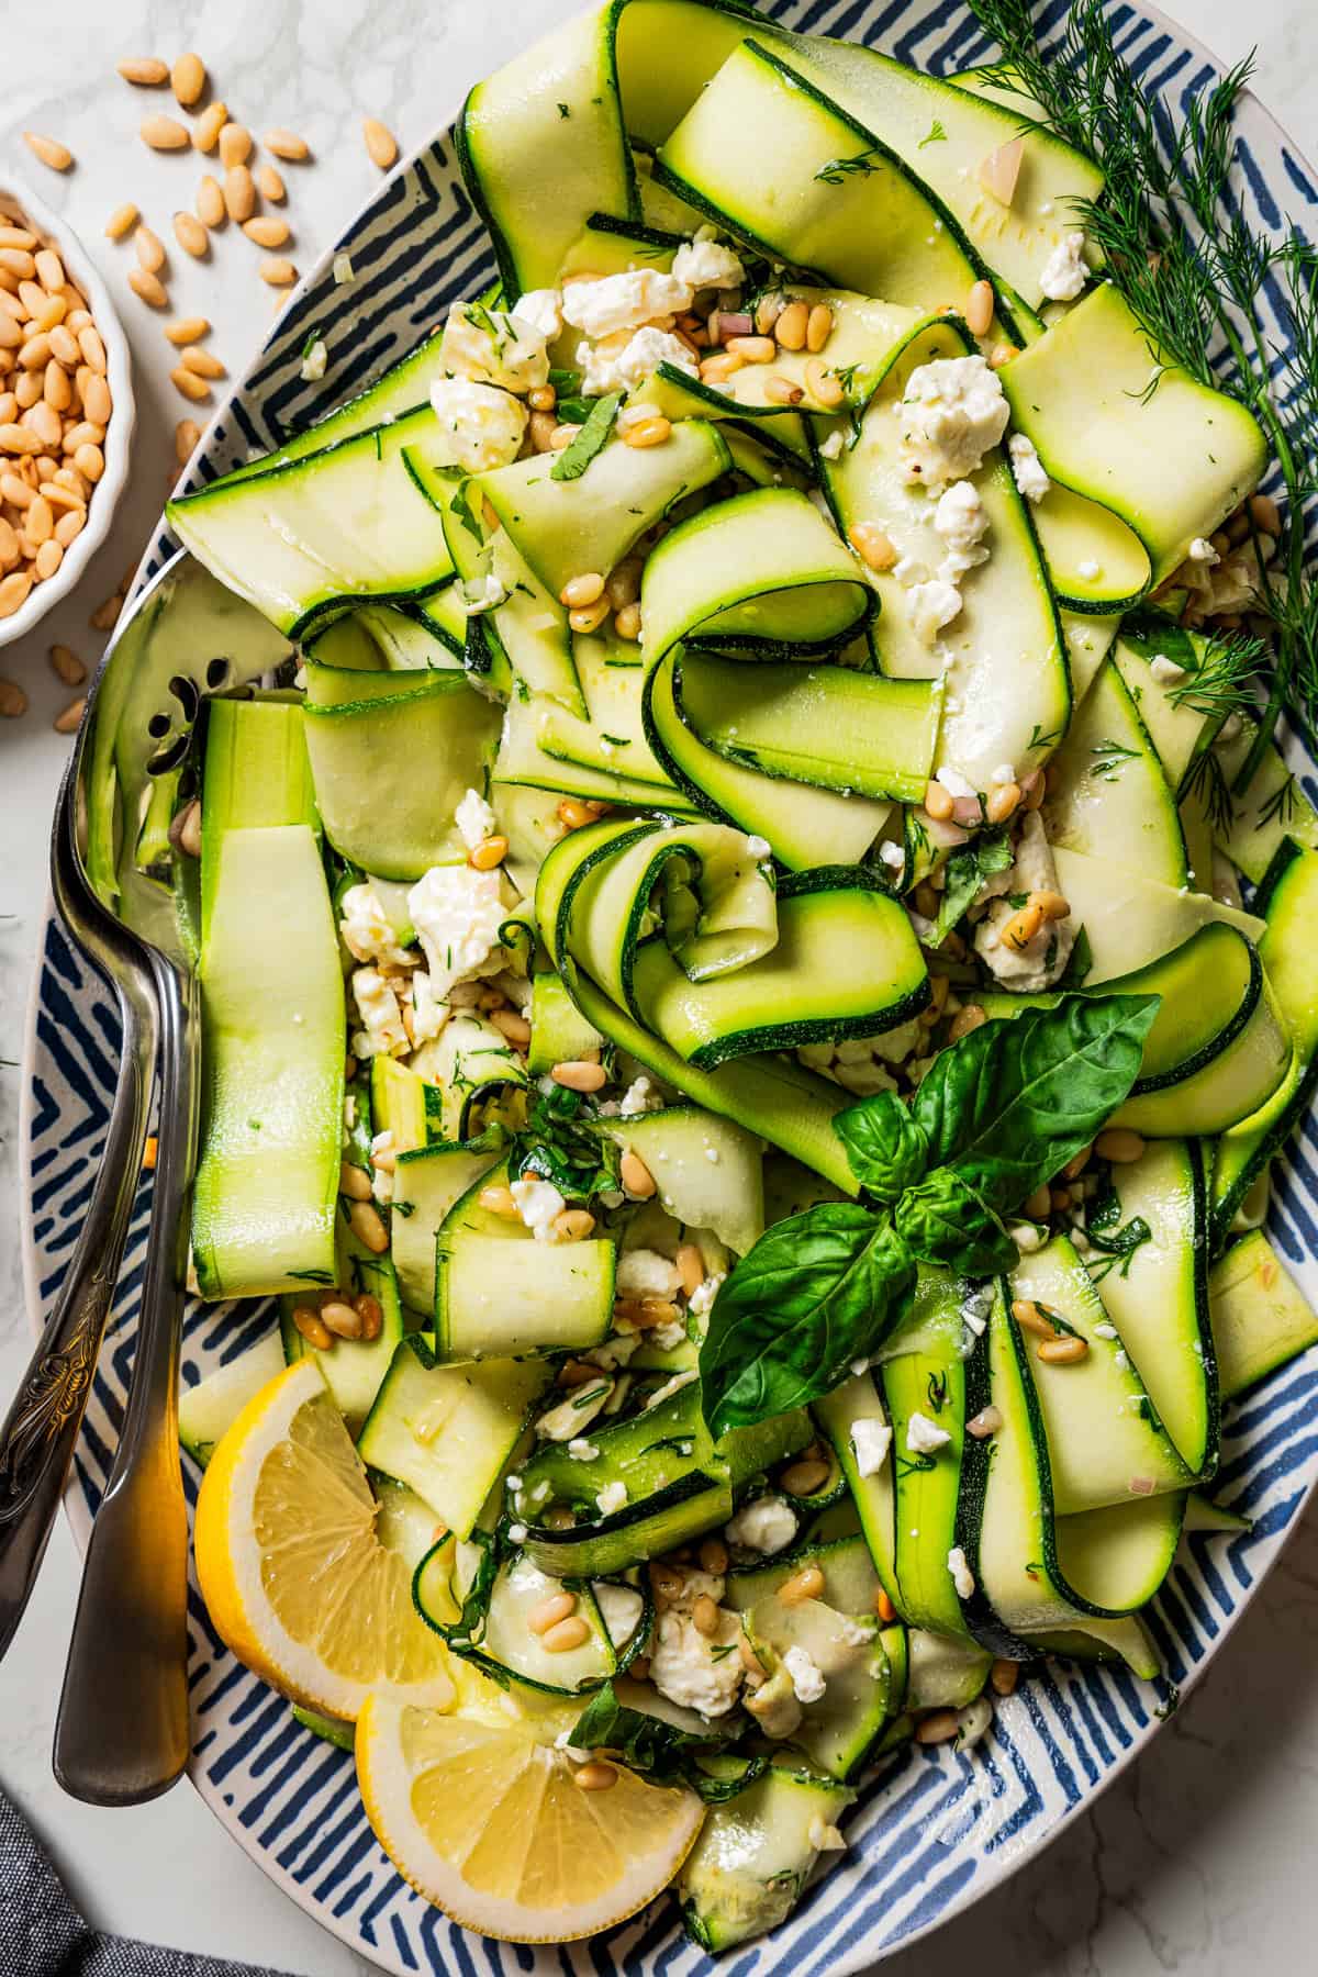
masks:
[[[69,898],[91,902],[105,935],[97,959],[121,994],[130,985],[134,1004],[154,1002],[160,1044],[158,1159],[132,1382],[87,1550],[55,1724],[59,1783],[97,1805],[154,1797],[188,1760],[178,1342],[200,990],[198,860],[180,850],[178,820],[198,781],[204,702],[249,690],[288,656],[288,643],[257,611],[192,558],[176,556],[134,599],[101,662],[55,817],[53,860],[69,876]],[[71,931],[77,937],[79,923]],[[124,1190],[130,1204],[130,1182]],[[45,1497],[53,1503],[49,1489]]]

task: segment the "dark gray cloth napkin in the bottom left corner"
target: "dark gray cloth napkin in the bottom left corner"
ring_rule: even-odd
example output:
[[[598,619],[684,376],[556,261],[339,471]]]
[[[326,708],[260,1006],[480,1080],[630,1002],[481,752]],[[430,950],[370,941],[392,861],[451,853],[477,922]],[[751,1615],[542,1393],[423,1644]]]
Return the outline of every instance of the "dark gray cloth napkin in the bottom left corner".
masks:
[[[0,1977],[279,1977],[251,1963],[107,1935],[79,1916],[53,1862],[0,1791]]]

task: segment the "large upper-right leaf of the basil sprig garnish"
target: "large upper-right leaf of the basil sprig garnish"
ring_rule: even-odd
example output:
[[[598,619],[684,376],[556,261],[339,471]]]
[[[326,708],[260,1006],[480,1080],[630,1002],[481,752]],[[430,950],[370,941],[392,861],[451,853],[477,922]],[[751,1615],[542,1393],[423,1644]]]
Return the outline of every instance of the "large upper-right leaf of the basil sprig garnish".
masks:
[[[1140,1075],[1156,994],[1067,996],[941,1052],[911,1113],[933,1166],[1008,1216],[1089,1147]]]

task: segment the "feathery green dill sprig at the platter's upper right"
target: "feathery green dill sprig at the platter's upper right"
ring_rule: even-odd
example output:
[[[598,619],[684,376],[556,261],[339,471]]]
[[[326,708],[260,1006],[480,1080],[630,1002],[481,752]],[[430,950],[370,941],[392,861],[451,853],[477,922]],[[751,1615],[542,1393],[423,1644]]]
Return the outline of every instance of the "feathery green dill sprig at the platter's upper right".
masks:
[[[1294,229],[1259,233],[1235,192],[1233,113],[1253,57],[1174,115],[1118,53],[1103,0],[1075,0],[1047,45],[1030,0],[970,0],[970,8],[1002,47],[988,73],[1037,103],[1022,127],[1055,130],[1103,168],[1103,196],[1077,200],[1075,221],[1148,330],[1154,364],[1172,358],[1239,397],[1280,471],[1280,544],[1273,548],[1253,520],[1241,544],[1253,546],[1277,645],[1269,702],[1233,785],[1243,791],[1292,698],[1318,724],[1318,583],[1304,567],[1318,492],[1318,249]],[[1265,293],[1282,316],[1284,348],[1265,328]]]

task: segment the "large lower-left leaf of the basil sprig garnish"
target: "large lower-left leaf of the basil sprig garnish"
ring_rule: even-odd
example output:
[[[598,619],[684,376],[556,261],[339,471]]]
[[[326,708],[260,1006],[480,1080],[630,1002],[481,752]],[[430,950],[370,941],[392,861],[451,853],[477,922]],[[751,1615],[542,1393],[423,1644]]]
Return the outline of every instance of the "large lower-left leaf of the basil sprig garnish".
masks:
[[[713,1301],[700,1348],[717,1437],[830,1394],[891,1331],[915,1263],[887,1216],[820,1202],[775,1224]]]

